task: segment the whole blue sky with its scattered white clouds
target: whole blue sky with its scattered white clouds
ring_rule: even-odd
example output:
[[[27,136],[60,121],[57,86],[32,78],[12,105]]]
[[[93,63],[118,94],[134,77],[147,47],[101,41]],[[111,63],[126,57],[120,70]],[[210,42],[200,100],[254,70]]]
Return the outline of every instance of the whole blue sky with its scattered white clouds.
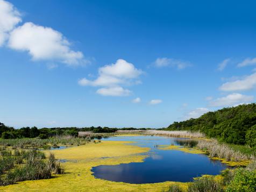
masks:
[[[0,122],[158,128],[254,102],[255,5],[0,0]]]

